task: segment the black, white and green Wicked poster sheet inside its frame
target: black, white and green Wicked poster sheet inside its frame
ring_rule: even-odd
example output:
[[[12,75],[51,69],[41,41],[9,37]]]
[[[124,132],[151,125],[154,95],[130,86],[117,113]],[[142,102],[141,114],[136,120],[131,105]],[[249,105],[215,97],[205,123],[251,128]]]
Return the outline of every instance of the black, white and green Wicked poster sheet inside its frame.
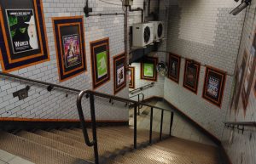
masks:
[[[38,49],[33,9],[6,9],[14,54]]]

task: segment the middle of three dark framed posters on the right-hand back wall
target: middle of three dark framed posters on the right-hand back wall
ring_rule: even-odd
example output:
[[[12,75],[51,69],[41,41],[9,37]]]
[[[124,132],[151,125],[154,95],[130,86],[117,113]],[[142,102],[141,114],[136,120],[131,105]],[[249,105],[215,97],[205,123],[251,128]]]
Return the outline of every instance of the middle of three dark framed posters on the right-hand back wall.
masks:
[[[186,59],[183,77],[183,87],[197,94],[200,63]]]

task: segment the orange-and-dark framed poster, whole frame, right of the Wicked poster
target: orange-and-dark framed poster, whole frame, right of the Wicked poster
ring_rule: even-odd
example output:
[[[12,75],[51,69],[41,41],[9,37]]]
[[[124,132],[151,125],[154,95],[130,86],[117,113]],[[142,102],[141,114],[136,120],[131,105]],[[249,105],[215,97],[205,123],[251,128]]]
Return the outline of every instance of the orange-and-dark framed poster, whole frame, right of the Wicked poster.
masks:
[[[60,82],[86,71],[83,16],[52,18]]]

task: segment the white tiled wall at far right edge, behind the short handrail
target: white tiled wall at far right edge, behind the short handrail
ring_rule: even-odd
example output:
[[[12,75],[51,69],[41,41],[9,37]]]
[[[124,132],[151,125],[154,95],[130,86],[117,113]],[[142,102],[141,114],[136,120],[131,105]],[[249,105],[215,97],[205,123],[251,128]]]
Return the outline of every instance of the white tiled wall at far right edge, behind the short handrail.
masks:
[[[253,42],[253,35],[256,27],[255,19],[256,1],[253,0],[251,6],[247,8],[245,17],[244,31],[241,37],[241,48],[238,55],[237,65],[241,65],[244,50],[247,50],[248,55],[251,55],[251,46]],[[248,66],[249,59],[247,60]],[[237,69],[237,67],[236,67]],[[247,68],[246,68],[247,71]],[[253,87],[256,81],[256,75],[253,77]],[[243,85],[243,83],[241,84]],[[256,94],[254,95],[253,88],[249,95],[247,110],[244,112],[241,102],[241,94],[239,99],[238,110],[234,109],[227,112],[225,121],[227,122],[256,122]],[[256,161],[256,134],[255,127],[246,127],[244,133],[235,130],[233,132],[233,141],[230,142],[232,136],[232,130],[224,128],[223,144],[224,148],[230,156],[230,161],[233,164],[253,164]]]

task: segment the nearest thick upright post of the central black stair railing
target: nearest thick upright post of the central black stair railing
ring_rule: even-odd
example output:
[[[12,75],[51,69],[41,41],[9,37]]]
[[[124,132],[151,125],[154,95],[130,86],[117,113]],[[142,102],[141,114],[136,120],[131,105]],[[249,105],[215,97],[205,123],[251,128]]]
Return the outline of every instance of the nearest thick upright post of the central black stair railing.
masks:
[[[92,133],[93,133],[93,141],[94,141],[95,163],[99,164],[99,154],[98,154],[97,134],[96,134],[95,101],[94,101],[94,95],[91,93],[90,93],[90,116],[91,116]]]

